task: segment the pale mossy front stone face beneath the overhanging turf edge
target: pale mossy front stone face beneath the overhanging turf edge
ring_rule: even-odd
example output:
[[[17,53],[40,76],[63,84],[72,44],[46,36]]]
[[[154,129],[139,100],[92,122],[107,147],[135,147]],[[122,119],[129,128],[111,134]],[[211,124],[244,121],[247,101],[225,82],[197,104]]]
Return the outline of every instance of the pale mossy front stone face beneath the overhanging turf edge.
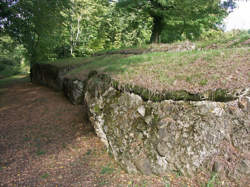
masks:
[[[139,95],[121,92],[112,85],[102,87],[99,92],[99,85],[95,87],[91,81],[85,94],[91,122],[97,134],[102,132],[100,137],[108,150],[127,171],[136,169],[159,175],[179,171],[193,175],[210,170],[213,165],[209,163],[216,155],[228,159],[229,153],[224,154],[221,149],[224,141],[230,145],[232,142],[239,161],[243,160],[241,153],[249,154],[249,114],[239,107],[239,99],[143,101]],[[96,107],[98,103],[103,107]],[[231,108],[235,111],[230,113]],[[243,165],[239,166],[242,171],[249,169],[247,164]],[[215,164],[213,169],[219,171],[219,167]]]

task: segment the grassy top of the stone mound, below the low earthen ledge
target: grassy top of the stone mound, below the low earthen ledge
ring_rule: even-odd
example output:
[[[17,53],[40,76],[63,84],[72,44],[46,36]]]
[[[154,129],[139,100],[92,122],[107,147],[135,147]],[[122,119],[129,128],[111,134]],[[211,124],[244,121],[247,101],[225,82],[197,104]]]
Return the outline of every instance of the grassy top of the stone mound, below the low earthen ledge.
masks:
[[[245,61],[245,57],[249,57],[249,54],[249,48],[155,52],[131,56],[115,54],[83,63],[69,72],[68,76],[80,79],[83,76],[85,79],[88,72],[96,70],[108,73],[123,83],[141,84],[153,90],[175,89],[176,81],[186,82],[187,85],[184,87],[186,90],[191,87],[206,89],[214,81],[226,85],[227,80],[224,80],[223,76],[250,63]],[[237,76],[245,77],[244,79],[249,77],[241,73]],[[151,82],[143,85],[143,82],[148,80]]]

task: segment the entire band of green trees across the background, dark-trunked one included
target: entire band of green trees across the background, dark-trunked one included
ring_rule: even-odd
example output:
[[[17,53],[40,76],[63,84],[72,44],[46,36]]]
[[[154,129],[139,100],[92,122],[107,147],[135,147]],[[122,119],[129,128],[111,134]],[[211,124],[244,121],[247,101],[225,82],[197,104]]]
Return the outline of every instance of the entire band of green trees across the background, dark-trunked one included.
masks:
[[[226,15],[220,0],[1,0],[0,9],[0,37],[31,63],[195,39]]]

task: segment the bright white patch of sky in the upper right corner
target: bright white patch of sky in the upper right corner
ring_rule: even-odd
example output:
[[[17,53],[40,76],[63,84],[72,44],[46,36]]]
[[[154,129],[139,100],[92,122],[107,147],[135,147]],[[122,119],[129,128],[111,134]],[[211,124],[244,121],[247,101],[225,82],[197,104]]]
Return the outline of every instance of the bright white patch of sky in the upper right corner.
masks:
[[[250,29],[250,1],[241,0],[237,2],[237,8],[225,18],[225,31],[233,29]]]

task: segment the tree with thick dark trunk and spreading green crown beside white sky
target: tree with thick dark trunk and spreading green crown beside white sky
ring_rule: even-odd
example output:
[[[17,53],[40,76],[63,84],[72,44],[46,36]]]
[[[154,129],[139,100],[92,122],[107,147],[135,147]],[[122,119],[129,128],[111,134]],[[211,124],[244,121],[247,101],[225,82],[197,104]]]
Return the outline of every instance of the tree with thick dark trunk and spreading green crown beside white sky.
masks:
[[[220,0],[119,0],[118,6],[129,10],[143,9],[153,19],[151,42],[160,42],[163,31],[176,29],[176,35],[188,37],[215,27],[226,16]]]

